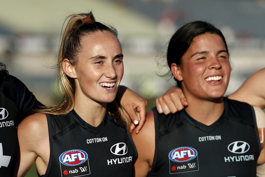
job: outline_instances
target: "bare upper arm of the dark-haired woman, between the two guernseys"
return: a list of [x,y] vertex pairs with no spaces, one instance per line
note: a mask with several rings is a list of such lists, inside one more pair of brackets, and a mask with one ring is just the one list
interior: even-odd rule
[[135,177],[145,177],[151,170],[155,154],[155,123],[152,111],[147,113],[142,130],[138,134],[132,133],[132,138],[138,152],[134,163]]

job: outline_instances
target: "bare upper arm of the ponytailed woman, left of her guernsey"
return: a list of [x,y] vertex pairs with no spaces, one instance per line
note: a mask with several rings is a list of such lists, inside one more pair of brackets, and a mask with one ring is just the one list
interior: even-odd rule
[[34,161],[40,175],[49,163],[49,134],[45,114],[26,117],[18,125],[19,157],[15,176],[24,176]]

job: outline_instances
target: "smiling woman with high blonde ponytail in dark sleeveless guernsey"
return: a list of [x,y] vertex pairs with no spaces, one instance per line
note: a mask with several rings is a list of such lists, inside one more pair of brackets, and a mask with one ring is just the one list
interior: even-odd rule
[[18,176],[34,161],[43,177],[133,176],[136,148],[114,101],[123,76],[117,30],[91,12],[67,19],[58,56],[63,100],[18,126]]

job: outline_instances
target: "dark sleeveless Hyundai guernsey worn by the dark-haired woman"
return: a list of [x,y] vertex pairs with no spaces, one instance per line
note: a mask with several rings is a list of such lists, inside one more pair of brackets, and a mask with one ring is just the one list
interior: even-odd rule
[[183,110],[153,108],[156,148],[148,176],[255,177],[260,141],[253,107],[224,98],[224,111],[206,126]]

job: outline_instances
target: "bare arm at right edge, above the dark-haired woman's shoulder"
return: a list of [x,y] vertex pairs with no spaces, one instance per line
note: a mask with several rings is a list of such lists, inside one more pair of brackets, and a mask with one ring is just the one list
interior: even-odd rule
[[253,106],[265,108],[265,68],[252,74],[240,88],[228,96]]

